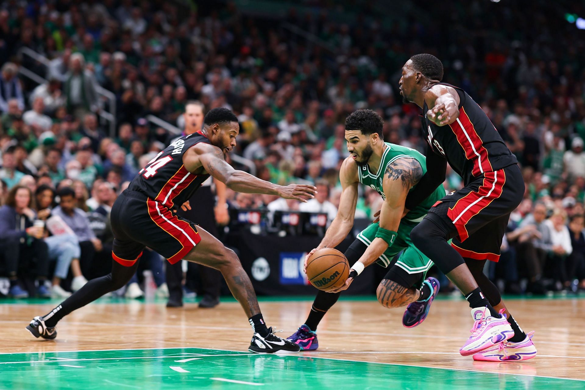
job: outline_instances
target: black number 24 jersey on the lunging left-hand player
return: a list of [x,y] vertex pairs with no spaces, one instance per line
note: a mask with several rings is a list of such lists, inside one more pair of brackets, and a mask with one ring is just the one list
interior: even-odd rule
[[183,165],[185,151],[199,142],[210,143],[202,132],[175,140],[140,170],[129,191],[142,192],[168,209],[180,207],[209,177],[192,174]]

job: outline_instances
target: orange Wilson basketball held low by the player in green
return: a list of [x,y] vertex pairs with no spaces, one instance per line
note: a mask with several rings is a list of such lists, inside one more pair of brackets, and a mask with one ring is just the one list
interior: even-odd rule
[[307,279],[322,291],[331,291],[345,283],[349,275],[349,262],[333,248],[316,250],[307,261]]

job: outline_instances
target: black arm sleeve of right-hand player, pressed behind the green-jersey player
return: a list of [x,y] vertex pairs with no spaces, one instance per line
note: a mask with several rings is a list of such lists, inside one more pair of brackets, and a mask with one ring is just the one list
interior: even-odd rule
[[426,173],[417,184],[417,188],[408,192],[404,208],[414,209],[435,191],[445,181],[447,160],[436,154],[426,145]]

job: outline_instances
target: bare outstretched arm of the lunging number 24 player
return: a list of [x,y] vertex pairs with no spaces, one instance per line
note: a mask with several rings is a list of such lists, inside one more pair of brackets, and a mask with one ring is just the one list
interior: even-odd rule
[[307,199],[315,197],[316,191],[312,185],[276,185],[244,171],[235,170],[232,165],[226,163],[221,149],[211,144],[198,143],[192,146],[185,152],[183,164],[190,172],[203,167],[208,174],[236,192],[278,195],[281,198],[296,199],[301,202],[307,202]]

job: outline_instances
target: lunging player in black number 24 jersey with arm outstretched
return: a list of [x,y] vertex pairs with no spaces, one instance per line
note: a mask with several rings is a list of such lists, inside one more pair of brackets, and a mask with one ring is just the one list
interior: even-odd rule
[[238,118],[228,109],[215,108],[205,115],[203,129],[180,137],[153,158],[112,206],[111,274],[91,280],[46,315],[35,317],[26,329],[35,337],[54,339],[61,318],[126,285],[136,272],[144,247],[149,247],[171,264],[185,259],[221,271],[252,325],[250,351],[298,351],[296,344],[277,337],[266,326],[250,278],[236,254],[201,227],[171,212],[177,206],[190,208],[187,200],[209,175],[236,192],[273,194],[302,202],[314,198],[312,185],[272,184],[226,163],[225,155],[236,146],[238,133]]

